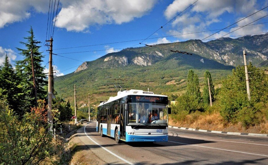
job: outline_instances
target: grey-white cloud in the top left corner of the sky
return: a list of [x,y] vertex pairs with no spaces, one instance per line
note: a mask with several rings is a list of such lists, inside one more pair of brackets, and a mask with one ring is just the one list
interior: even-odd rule
[[1,0],[0,1],[0,28],[13,22],[27,19],[31,11],[48,12],[49,1],[45,0]]

